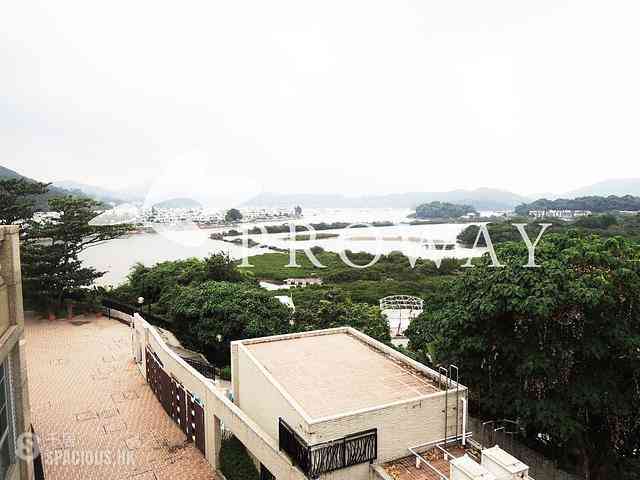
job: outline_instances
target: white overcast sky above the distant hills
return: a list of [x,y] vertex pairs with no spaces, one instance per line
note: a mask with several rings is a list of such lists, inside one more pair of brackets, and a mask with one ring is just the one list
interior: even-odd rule
[[124,187],[195,155],[209,184],[346,194],[640,177],[638,18],[637,1],[4,2],[0,164]]

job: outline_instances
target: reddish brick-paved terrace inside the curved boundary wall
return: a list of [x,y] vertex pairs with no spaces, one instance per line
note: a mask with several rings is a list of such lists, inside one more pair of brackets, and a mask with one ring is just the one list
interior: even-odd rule
[[47,480],[214,480],[106,318],[27,318],[32,421]]

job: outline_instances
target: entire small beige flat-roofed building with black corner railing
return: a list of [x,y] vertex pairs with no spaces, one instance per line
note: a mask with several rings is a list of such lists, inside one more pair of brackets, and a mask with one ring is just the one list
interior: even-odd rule
[[236,405],[309,478],[369,478],[466,428],[466,387],[352,328],[234,342],[231,355]]

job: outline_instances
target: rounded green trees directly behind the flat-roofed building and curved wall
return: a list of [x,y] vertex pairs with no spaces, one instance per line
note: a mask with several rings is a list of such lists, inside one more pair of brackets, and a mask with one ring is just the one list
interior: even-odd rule
[[296,289],[287,292],[296,305],[294,314],[275,293],[282,294],[259,288],[250,273],[218,253],[204,260],[138,264],[110,295],[126,303],[144,297],[163,326],[219,366],[229,364],[229,343],[243,338],[352,326],[383,342],[390,340],[378,297],[369,305],[352,300],[348,291]]

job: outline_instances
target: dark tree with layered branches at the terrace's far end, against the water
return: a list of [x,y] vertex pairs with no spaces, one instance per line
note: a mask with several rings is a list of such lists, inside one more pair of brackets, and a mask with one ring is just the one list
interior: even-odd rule
[[92,225],[99,203],[87,198],[61,197],[49,201],[52,213],[28,223],[23,242],[25,296],[50,310],[90,286],[104,272],[84,266],[80,253],[126,234],[129,225]]

